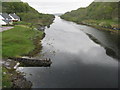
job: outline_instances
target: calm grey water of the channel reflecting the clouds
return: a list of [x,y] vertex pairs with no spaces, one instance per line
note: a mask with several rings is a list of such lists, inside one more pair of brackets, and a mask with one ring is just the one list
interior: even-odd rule
[[19,68],[33,88],[117,88],[118,61],[105,49],[117,53],[116,35],[57,16],[45,33],[42,52],[36,58],[51,58],[52,66]]

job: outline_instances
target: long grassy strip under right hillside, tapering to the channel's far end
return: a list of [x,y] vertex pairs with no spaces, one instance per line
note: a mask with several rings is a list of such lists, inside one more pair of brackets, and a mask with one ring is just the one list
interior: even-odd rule
[[75,22],[77,24],[82,24],[82,25],[87,25],[87,26],[91,26],[93,28],[99,29],[99,30],[105,30],[105,31],[110,31],[113,33],[118,33],[120,34],[120,22],[118,21],[113,21],[113,20],[93,20],[93,19],[86,19],[86,20],[81,20],[78,21],[77,19],[71,17],[71,18],[67,18],[65,15],[61,16],[62,19],[65,19],[67,21],[72,21]]

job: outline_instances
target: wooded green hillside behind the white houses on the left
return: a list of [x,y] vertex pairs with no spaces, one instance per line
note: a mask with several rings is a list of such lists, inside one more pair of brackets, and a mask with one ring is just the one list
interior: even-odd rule
[[30,7],[28,3],[24,2],[3,2],[2,12],[16,13],[24,22],[45,26],[49,26],[54,18],[53,15],[39,13],[34,8]]

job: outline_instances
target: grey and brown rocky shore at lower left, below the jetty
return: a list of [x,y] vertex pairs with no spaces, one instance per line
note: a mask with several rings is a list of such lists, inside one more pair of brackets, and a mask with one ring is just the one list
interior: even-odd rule
[[[7,70],[7,73],[11,77],[11,88],[31,88],[32,82],[28,81],[21,72],[16,71],[19,63],[11,59],[2,60],[2,68]],[[5,87],[3,87],[5,88]]]

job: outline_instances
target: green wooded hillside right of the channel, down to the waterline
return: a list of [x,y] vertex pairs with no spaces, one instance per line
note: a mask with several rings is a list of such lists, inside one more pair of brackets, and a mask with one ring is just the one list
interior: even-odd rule
[[120,29],[119,5],[117,2],[93,2],[86,8],[67,12],[61,18],[78,24]]

